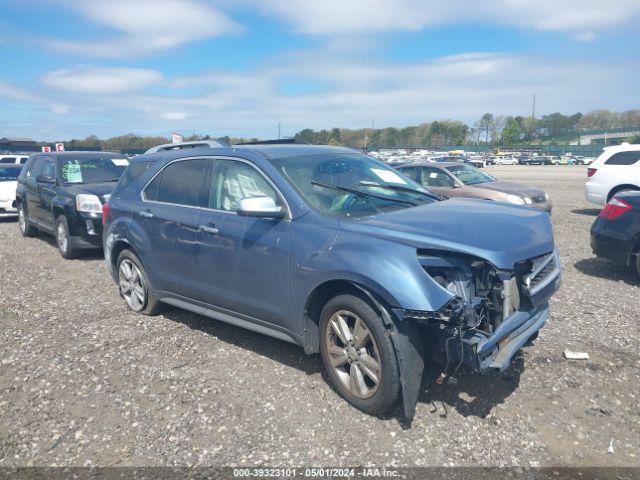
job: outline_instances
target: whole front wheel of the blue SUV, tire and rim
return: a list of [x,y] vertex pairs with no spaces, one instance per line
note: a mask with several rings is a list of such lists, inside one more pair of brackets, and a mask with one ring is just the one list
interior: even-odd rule
[[378,415],[397,403],[400,379],[390,331],[362,299],[338,295],[325,305],[320,354],[331,383],[352,405]]

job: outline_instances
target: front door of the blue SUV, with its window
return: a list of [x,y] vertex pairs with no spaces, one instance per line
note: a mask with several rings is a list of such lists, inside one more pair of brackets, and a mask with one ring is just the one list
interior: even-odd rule
[[284,205],[267,176],[240,159],[217,159],[208,205],[199,213],[200,300],[288,327],[288,219],[238,215],[243,198],[268,196]]

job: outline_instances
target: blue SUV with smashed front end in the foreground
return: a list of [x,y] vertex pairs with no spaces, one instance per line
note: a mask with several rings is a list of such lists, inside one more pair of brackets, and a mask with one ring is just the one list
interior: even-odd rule
[[442,201],[351,149],[166,146],[104,205],[104,252],[133,311],[170,304],[320,352],[370,414],[403,403],[424,362],[504,370],[549,317],[549,216]]

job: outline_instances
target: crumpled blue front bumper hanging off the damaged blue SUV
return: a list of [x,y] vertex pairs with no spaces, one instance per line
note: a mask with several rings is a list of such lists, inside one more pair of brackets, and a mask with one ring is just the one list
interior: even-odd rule
[[470,330],[463,336],[463,363],[476,371],[498,369],[504,371],[513,356],[549,318],[549,305],[531,311],[517,311],[487,336]]

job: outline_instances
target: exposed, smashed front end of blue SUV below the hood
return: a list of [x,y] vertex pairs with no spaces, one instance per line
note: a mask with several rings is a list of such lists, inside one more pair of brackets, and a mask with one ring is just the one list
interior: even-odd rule
[[[445,364],[441,381],[462,364],[476,371],[506,368],[508,363],[496,361],[498,353],[523,335],[522,326],[539,310],[548,308],[547,299],[559,285],[557,252],[519,262],[512,271],[466,255],[419,250],[418,258],[431,279],[452,295],[436,312],[404,311],[405,319],[426,327],[429,352]],[[519,348],[526,340],[510,346]]]

